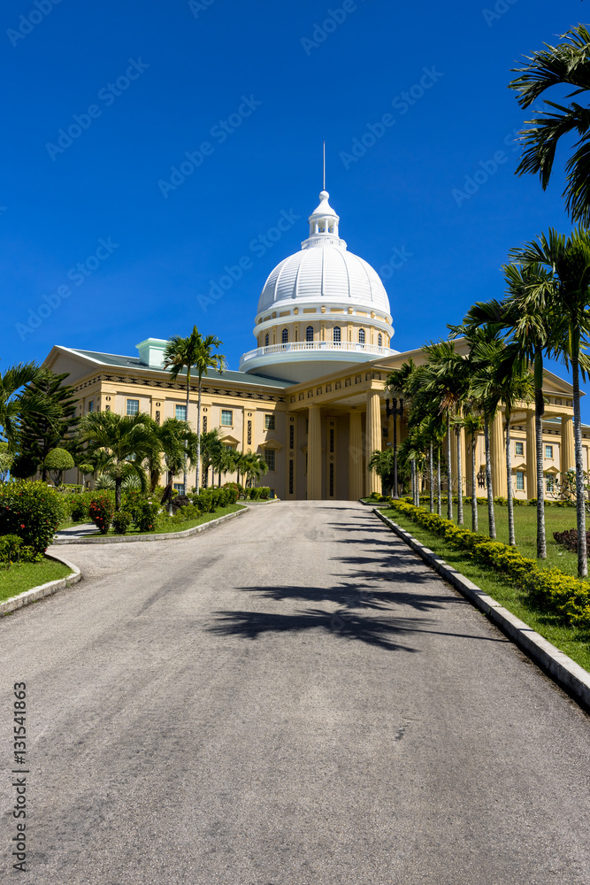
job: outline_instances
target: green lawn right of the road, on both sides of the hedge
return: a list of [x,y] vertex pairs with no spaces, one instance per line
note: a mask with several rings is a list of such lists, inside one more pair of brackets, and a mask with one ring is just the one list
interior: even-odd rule
[[[426,508],[428,509],[428,508]],[[456,511],[456,506],[454,508]],[[497,540],[508,542],[508,514],[507,508],[496,506],[496,528]],[[529,627],[544,636],[550,643],[553,643],[558,649],[565,652],[580,666],[590,671],[590,634],[582,630],[567,627],[556,615],[542,611],[539,607],[533,605],[527,598],[526,594],[517,588],[516,585],[510,583],[510,580],[503,575],[487,571],[483,566],[474,564],[463,550],[454,550],[433,532],[427,531],[417,522],[410,519],[393,508],[384,509],[383,512],[390,519],[393,519],[398,526],[405,528],[410,535],[415,537],[420,543],[433,550],[438,556],[441,556],[449,566],[453,566],[456,570],[466,578],[476,583],[479,588],[485,590],[490,596],[493,596],[497,602],[504,605],[509,612],[515,614],[517,618],[524,620]],[[517,543],[519,549],[525,556],[535,558],[536,556],[536,518],[535,509],[533,507],[515,507],[515,524],[517,533]],[[446,510],[442,514],[446,518]],[[466,527],[471,528],[471,510],[465,511]],[[455,513],[456,516],[456,513]],[[563,569],[564,572],[576,574],[576,556],[573,553],[564,552],[563,556],[558,555],[558,547],[553,540],[550,532],[562,530],[575,526],[576,512],[573,508],[551,508],[545,510],[548,531],[548,565],[556,565]],[[573,521],[572,521],[573,517]],[[487,526],[487,507],[479,507],[479,527],[482,534],[487,534],[485,528]],[[550,535],[550,538],[549,538]],[[565,564],[568,567],[565,567]]]

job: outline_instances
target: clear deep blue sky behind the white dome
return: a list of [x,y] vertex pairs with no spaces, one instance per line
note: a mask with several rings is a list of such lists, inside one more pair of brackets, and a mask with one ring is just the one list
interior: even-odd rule
[[[0,366],[53,344],[135,354],[196,324],[237,368],[266,276],[307,235],[324,139],[341,235],[382,273],[395,348],[446,335],[472,302],[502,296],[510,247],[571,227],[567,150],[546,192],[514,175],[525,115],[507,84],[585,12],[579,0],[7,0]],[[272,242],[281,212],[300,219]],[[244,256],[249,269],[206,304]],[[71,294],[58,304],[59,287]]]

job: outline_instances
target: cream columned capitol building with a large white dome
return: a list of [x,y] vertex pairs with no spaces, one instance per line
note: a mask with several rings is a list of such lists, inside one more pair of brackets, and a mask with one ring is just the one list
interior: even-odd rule
[[[233,449],[262,454],[269,468],[264,484],[280,498],[355,500],[381,490],[379,477],[367,465],[374,450],[392,444],[393,421],[398,422],[398,440],[407,433],[405,416],[386,417],[387,375],[410,358],[419,365],[425,356],[421,346],[402,353],[392,347],[386,289],[372,266],[341,239],[340,218],[325,190],[309,224],[301,250],[284,258],[264,283],[254,318],[256,347],[242,355],[239,371],[203,378],[201,426],[218,427]],[[213,331],[223,340],[222,328]],[[69,373],[67,383],[76,391],[80,415],[99,409],[148,412],[158,422],[186,417],[195,428],[196,385],[191,386],[186,415],[186,384],[181,376],[171,381],[165,371],[165,344],[148,338],[137,345],[137,355],[128,357],[56,345],[43,365]],[[462,342],[456,347],[461,352]],[[551,477],[574,466],[572,389],[546,371],[543,390],[544,473],[550,495]],[[499,411],[491,445],[494,494],[505,496],[502,421]],[[530,498],[536,496],[533,407],[515,410],[511,421],[513,488],[516,496]],[[587,470],[588,428],[583,442]],[[464,435],[461,446],[466,465]],[[480,440],[480,477],[484,460]],[[182,477],[176,479],[182,490]],[[189,487],[195,479],[193,470]],[[226,480],[231,479],[227,474]],[[80,482],[81,476],[71,471],[66,481]],[[471,494],[469,482],[465,477],[462,481]],[[483,479],[476,493],[485,494]]]

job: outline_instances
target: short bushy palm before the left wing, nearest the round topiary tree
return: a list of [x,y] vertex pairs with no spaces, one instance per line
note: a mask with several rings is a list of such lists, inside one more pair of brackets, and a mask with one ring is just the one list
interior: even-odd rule
[[89,412],[80,421],[80,443],[88,443],[88,456],[103,450],[103,473],[115,481],[115,510],[121,509],[121,486],[129,476],[136,476],[142,491],[147,489],[143,462],[160,450],[153,421],[147,412],[118,415],[116,412]]

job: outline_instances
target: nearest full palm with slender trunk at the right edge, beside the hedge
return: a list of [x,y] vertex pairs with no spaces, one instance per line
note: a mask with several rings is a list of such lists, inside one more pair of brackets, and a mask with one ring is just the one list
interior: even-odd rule
[[582,419],[579,408],[580,367],[585,374],[587,358],[583,345],[590,335],[590,235],[582,228],[569,237],[549,228],[548,235],[540,234],[538,241],[512,250],[511,257],[523,268],[533,272],[541,268],[546,273],[529,286],[525,301],[533,311],[553,318],[554,336],[550,342],[556,356],[571,367],[573,387],[574,443],[576,452],[578,574],[588,573],[586,552],[586,507],[584,496],[584,465],[582,460]]

